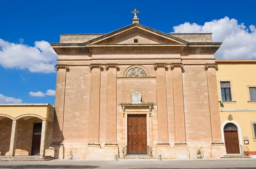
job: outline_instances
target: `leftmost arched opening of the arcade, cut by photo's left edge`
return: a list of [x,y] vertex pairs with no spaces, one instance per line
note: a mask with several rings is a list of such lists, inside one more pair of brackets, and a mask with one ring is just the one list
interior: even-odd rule
[[0,155],[8,156],[12,135],[12,118],[0,115]]

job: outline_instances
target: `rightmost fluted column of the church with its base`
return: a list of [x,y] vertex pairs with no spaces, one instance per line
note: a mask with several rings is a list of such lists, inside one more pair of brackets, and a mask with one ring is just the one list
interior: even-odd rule
[[207,72],[207,86],[209,99],[209,113],[212,131],[212,158],[220,158],[227,154],[226,147],[221,139],[221,121],[218,103],[218,88],[216,79],[217,64],[205,64]]

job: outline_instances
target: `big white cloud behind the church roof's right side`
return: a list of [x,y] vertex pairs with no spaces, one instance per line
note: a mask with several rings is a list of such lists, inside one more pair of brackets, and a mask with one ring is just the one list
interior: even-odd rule
[[217,59],[256,59],[256,27],[249,29],[236,19],[224,17],[204,25],[184,23],[174,26],[175,33],[210,33],[213,42],[223,42],[215,53]]

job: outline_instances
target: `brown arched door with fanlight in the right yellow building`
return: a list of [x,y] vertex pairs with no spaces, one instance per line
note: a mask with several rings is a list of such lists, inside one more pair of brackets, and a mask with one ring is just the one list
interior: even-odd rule
[[237,127],[233,123],[224,126],[224,140],[227,154],[240,154]]

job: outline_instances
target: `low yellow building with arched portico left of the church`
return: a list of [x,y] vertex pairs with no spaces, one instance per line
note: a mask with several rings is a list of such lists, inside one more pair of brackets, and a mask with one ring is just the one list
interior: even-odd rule
[[50,104],[0,104],[0,161],[29,155],[53,159],[49,146],[54,111]]

